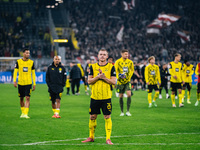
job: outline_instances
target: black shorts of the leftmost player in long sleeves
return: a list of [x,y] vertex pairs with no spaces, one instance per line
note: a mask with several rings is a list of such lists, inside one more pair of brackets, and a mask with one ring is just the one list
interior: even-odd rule
[[18,96],[19,97],[25,97],[31,96],[31,92],[32,92],[32,84],[30,85],[18,85]]

